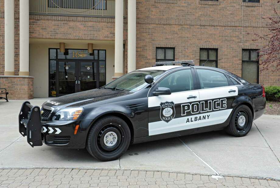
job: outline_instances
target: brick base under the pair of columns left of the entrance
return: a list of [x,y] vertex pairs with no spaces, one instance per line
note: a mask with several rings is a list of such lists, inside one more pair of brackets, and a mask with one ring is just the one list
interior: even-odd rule
[[0,76],[0,88],[6,88],[8,99],[33,99],[32,76]]

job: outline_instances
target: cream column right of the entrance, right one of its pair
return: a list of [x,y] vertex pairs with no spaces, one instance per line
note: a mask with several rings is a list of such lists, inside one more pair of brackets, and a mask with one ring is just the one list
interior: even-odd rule
[[128,1],[128,73],[136,69],[136,0]]

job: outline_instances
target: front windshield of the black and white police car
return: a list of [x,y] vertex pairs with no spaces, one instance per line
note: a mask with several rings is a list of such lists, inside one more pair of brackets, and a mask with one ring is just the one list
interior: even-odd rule
[[163,70],[137,70],[128,73],[117,80],[104,86],[105,89],[135,92],[147,85],[144,78],[146,75],[152,75],[154,79],[162,74]]

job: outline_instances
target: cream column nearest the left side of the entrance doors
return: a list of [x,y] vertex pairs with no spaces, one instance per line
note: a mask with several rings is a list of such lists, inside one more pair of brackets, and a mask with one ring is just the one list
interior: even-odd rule
[[29,0],[19,0],[19,75],[29,76]]

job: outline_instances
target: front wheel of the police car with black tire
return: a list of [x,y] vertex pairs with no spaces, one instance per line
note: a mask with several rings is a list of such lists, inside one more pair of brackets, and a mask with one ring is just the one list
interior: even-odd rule
[[129,144],[130,130],[127,123],[116,116],[105,116],[97,120],[89,130],[86,149],[96,159],[113,161],[124,154]]

